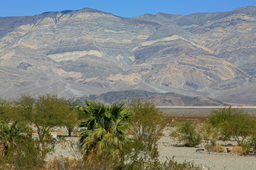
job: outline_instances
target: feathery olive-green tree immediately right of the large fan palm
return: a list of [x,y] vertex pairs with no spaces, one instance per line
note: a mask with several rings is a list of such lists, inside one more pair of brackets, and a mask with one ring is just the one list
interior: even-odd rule
[[128,107],[133,113],[129,124],[136,146],[141,141],[143,145],[141,149],[144,148],[146,156],[150,156],[152,159],[158,157],[157,142],[166,125],[165,116],[153,102],[146,100],[133,99]]

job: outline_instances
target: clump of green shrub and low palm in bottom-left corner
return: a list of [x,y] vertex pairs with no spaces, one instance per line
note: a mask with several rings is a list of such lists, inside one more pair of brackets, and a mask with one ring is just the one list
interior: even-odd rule
[[32,137],[30,128],[16,122],[1,122],[0,143],[4,146],[1,150],[0,169],[43,168],[46,154],[52,151]]

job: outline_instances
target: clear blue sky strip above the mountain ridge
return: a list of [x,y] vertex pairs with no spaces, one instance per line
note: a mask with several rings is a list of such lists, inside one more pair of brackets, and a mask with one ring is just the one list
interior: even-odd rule
[[256,0],[1,0],[0,17],[82,8],[94,8],[122,17],[136,17],[158,12],[192,14],[232,11],[249,5],[256,6]]

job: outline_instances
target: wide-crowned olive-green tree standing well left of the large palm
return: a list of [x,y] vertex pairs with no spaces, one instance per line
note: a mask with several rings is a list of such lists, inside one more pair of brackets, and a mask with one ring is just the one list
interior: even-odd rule
[[[46,94],[36,99],[23,95],[11,102],[8,112],[12,119],[18,120],[20,124],[35,124],[39,140],[42,142],[46,135],[50,137],[50,128],[62,126],[70,109],[66,99],[58,98],[56,95]],[[69,117],[70,120],[72,118]]]

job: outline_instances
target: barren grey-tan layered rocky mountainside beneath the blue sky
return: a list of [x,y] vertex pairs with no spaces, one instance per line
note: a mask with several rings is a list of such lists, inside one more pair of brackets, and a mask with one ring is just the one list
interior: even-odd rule
[[84,8],[2,17],[0,96],[140,89],[254,104],[255,24],[255,7],[186,16],[126,18]]

